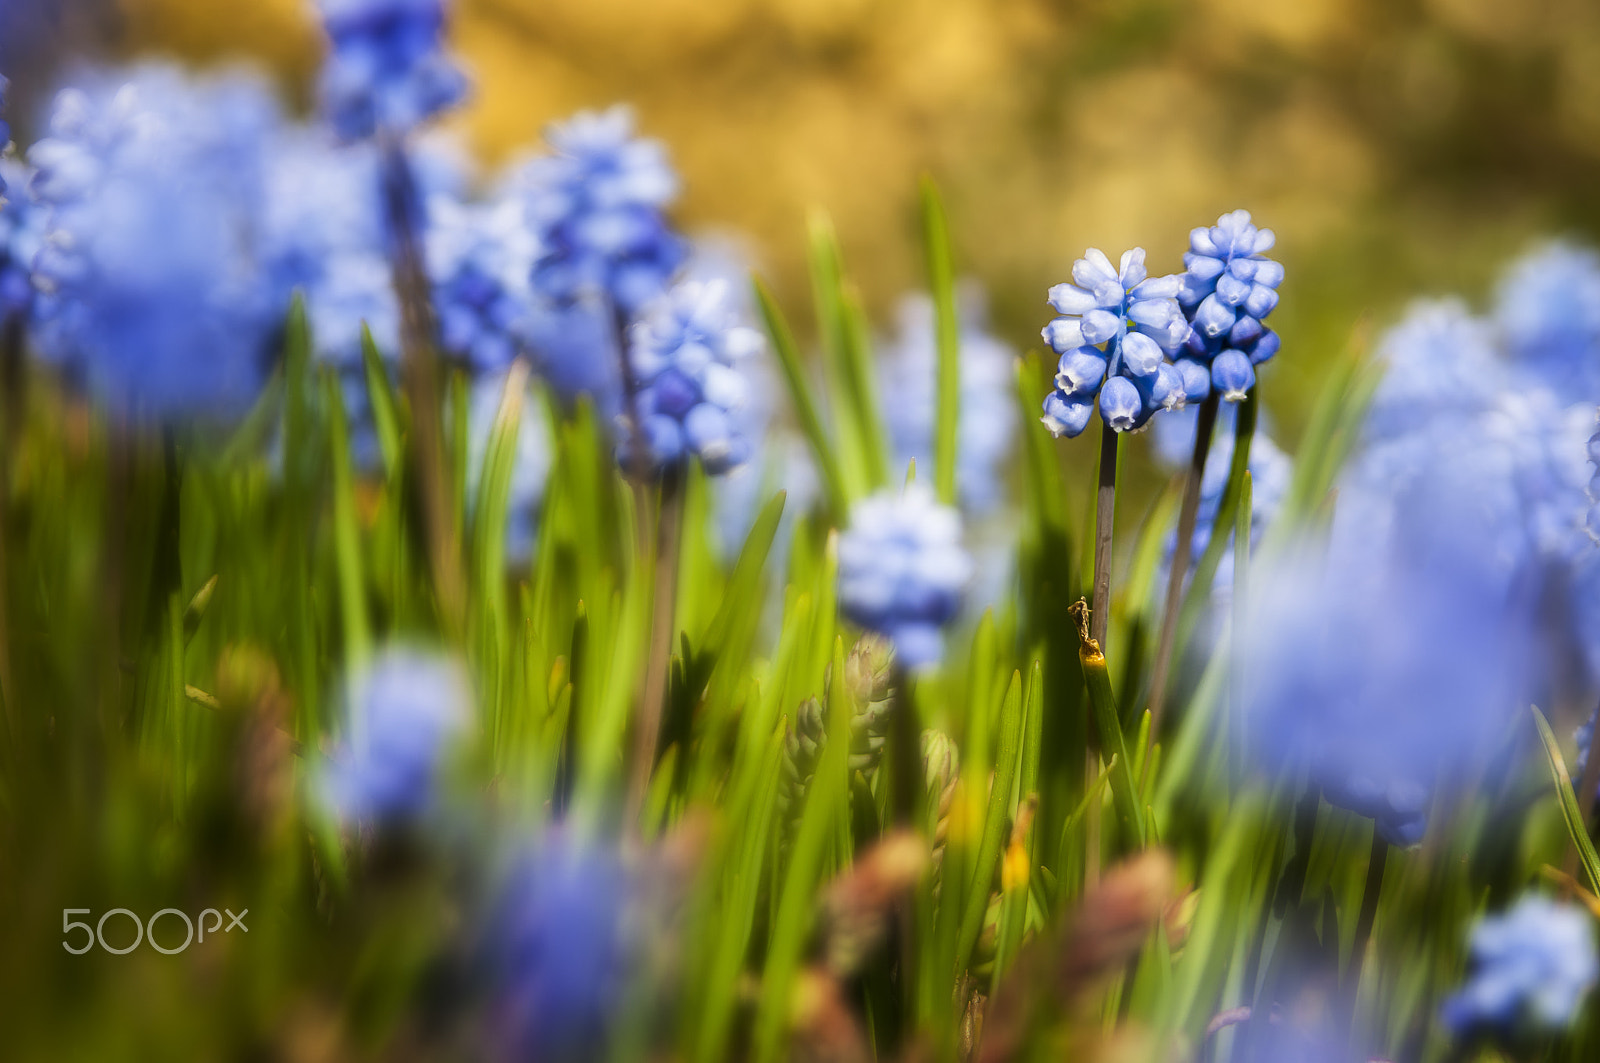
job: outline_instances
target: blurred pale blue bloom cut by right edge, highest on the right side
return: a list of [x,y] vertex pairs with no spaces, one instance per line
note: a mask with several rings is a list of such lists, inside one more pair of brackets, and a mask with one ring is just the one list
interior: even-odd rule
[[1494,325],[1546,387],[1600,399],[1600,255],[1554,242],[1517,259],[1496,291]]

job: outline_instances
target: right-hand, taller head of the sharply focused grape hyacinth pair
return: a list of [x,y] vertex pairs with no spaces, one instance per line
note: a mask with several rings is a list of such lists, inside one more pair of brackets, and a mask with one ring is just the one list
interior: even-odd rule
[[1178,370],[1190,402],[1216,391],[1238,402],[1256,368],[1278,352],[1278,335],[1261,323],[1278,304],[1283,266],[1266,256],[1277,237],[1235,210],[1189,234],[1178,301],[1194,327]]

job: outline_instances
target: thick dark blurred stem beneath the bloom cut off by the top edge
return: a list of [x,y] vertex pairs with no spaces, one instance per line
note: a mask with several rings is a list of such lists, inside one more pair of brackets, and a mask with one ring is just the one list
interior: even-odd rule
[[384,142],[384,205],[394,235],[395,295],[400,299],[400,378],[411,405],[411,458],[416,463],[422,503],[422,532],[427,536],[434,594],[440,620],[451,637],[466,623],[466,581],[461,572],[461,543],[451,519],[450,463],[440,427],[443,392],[438,355],[434,349],[434,301],[422,269],[422,245],[416,231],[419,199],[416,176],[398,139]]

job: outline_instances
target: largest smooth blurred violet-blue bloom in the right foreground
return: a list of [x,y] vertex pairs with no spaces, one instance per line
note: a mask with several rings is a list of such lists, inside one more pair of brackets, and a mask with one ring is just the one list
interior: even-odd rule
[[1328,800],[1421,837],[1442,775],[1498,735],[1528,682],[1526,588],[1453,490],[1413,487],[1387,523],[1344,522],[1317,556],[1251,580],[1250,748],[1277,773],[1307,765]]

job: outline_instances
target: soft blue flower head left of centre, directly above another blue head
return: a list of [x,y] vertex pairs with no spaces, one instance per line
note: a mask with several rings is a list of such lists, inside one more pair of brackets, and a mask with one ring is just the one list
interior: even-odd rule
[[515,178],[539,243],[534,290],[560,306],[589,298],[632,317],[688,253],[662,215],[678,194],[667,152],[634,134],[622,106],[579,112],[546,141],[550,154]]

